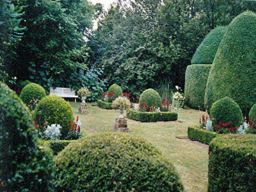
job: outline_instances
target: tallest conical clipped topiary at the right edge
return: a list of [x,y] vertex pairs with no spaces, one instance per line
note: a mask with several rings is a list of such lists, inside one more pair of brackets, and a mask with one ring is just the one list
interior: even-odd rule
[[256,14],[238,15],[223,36],[205,89],[205,106],[223,97],[239,104],[248,115],[256,103]]

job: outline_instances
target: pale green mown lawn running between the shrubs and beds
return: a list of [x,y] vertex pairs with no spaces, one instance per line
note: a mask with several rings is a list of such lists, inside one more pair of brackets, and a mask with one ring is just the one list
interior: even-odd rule
[[[88,114],[79,114],[79,102],[70,102],[74,116],[82,122],[83,134],[112,132],[115,118],[120,113],[88,104]],[[198,125],[204,112],[194,109],[175,110],[175,122],[141,123],[127,119],[129,132],[143,136],[155,145],[177,168],[184,188],[188,192],[207,191],[208,150],[179,138],[186,137],[189,126]],[[178,138],[177,138],[178,137]]]

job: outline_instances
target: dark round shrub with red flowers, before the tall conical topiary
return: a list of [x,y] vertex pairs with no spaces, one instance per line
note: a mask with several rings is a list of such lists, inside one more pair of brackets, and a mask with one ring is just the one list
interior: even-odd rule
[[[224,97],[212,104],[211,119],[214,131],[223,133],[225,130],[222,129],[225,129],[225,127],[227,127],[227,129],[230,127],[238,128],[243,121],[243,114],[239,105],[234,102],[234,100],[229,97]],[[220,125],[220,130],[216,128],[218,125]],[[232,132],[231,129],[229,131]],[[234,129],[234,131],[236,131],[236,129]]]

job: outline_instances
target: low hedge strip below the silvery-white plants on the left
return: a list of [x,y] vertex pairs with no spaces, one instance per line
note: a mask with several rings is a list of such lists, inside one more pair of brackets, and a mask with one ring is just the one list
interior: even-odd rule
[[49,146],[54,156],[56,156],[72,141],[74,140],[38,140],[38,144],[43,146]]

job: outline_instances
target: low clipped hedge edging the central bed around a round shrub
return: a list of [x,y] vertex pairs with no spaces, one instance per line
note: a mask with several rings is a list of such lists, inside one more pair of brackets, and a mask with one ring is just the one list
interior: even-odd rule
[[175,112],[141,112],[132,109],[127,110],[127,118],[141,122],[169,122],[178,119]]

